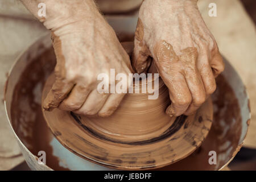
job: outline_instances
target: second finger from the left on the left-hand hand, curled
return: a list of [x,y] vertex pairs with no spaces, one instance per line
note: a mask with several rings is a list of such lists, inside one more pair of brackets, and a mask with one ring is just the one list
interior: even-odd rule
[[75,85],[68,98],[61,102],[59,109],[73,111],[80,109],[91,90],[85,86]]

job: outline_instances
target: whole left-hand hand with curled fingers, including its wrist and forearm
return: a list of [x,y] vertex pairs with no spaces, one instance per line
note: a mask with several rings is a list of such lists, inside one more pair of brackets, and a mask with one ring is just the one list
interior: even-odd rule
[[[38,2],[23,0],[35,16]],[[59,107],[77,114],[102,117],[112,114],[125,94],[100,94],[97,85],[101,80],[97,77],[101,73],[110,77],[110,69],[115,69],[115,74],[125,73],[128,80],[132,70],[130,58],[114,30],[93,1],[40,2],[46,3],[47,16],[38,19],[52,31],[57,58],[56,81],[43,108]]]

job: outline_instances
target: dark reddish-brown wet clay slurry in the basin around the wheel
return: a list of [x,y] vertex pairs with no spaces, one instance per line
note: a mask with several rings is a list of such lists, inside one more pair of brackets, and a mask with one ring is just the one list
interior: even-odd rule
[[[46,126],[40,104],[42,85],[53,71],[54,65],[55,55],[51,49],[27,66],[15,87],[11,105],[11,121],[15,133],[25,146],[34,155],[37,155],[38,151],[46,151],[47,166],[60,170],[65,168],[61,167],[60,159],[53,155],[52,146],[49,144],[49,141],[53,139],[53,134]],[[231,158],[241,135],[240,108],[233,90],[224,77],[218,77],[217,84],[217,91],[213,94],[215,119],[208,137],[201,147],[188,158],[163,169],[219,169]],[[201,119],[198,121],[201,122]],[[230,123],[233,124],[229,127]],[[59,136],[61,133],[56,132],[54,135]],[[226,142],[231,144],[227,143],[225,148]],[[210,150],[223,155],[222,158],[218,158],[217,166],[210,166],[207,163]],[[129,158],[133,159],[133,157]]]

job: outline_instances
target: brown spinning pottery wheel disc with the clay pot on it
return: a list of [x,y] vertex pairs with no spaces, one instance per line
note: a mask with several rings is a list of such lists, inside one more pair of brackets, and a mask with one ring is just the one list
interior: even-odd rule
[[[42,100],[55,80],[44,86]],[[47,125],[64,147],[81,158],[117,169],[152,169],[185,158],[201,145],[213,119],[212,101],[188,117],[170,117],[168,89],[159,80],[159,98],[126,94],[110,117],[88,118],[55,109],[43,111]]]

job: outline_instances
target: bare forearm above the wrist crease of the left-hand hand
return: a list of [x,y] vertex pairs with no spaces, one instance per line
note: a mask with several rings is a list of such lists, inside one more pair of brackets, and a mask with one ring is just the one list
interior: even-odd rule
[[[93,0],[20,0],[27,9],[44,23],[49,30],[54,30],[78,20],[92,22],[101,15]],[[38,15],[39,3],[46,5],[46,16]]]

